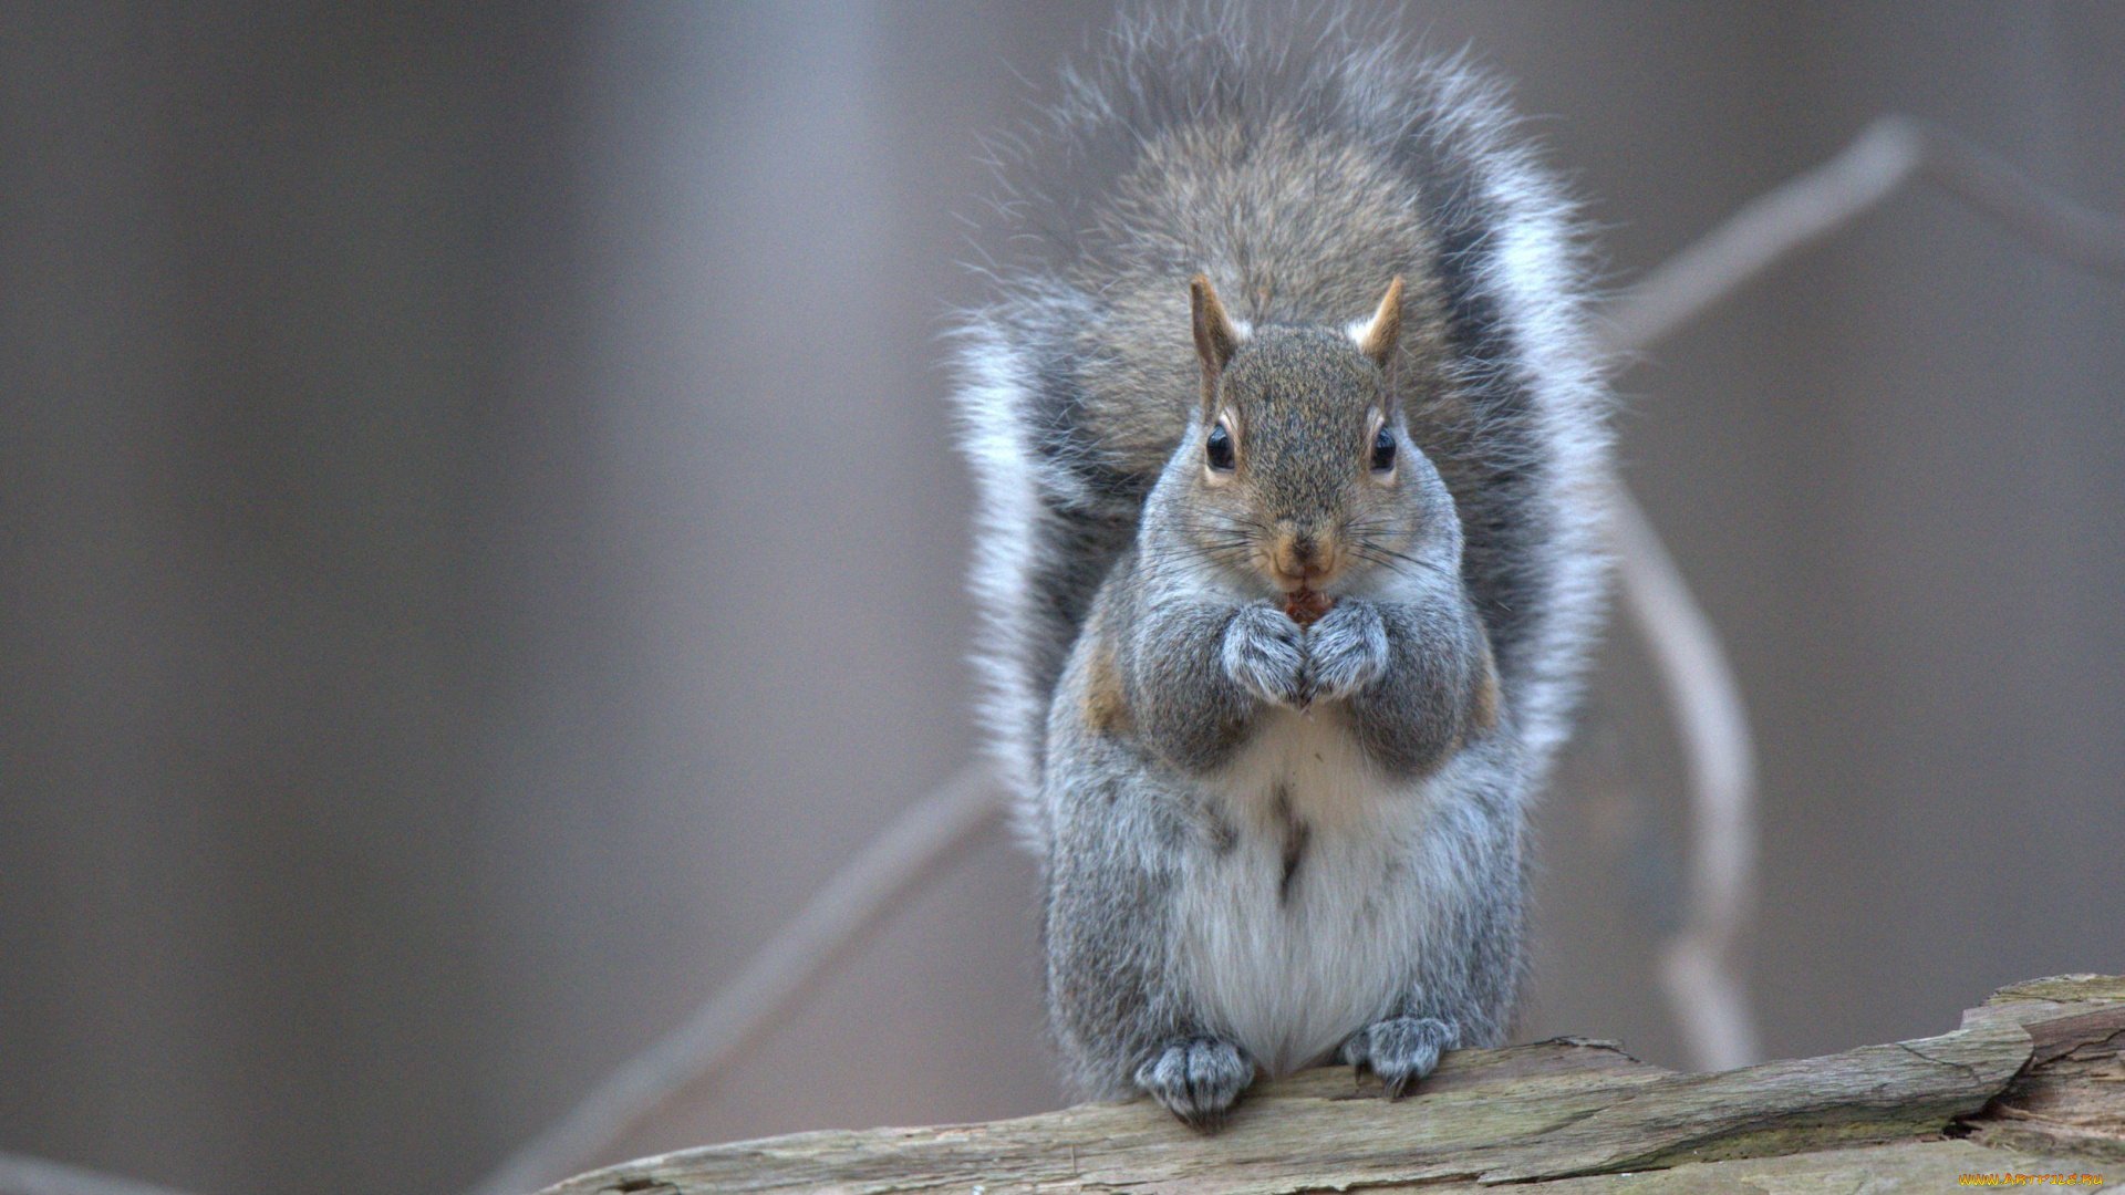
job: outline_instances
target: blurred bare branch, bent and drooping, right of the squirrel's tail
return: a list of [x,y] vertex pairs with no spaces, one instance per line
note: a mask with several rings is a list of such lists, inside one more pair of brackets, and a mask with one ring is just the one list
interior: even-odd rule
[[[1806,174],[1751,200],[1617,298],[1604,347],[1628,355],[1711,310],[1742,283],[1925,179],[2076,266],[2125,274],[2125,219],[2070,204],[1974,145],[1881,117]],[[1668,1004],[1700,1070],[1757,1059],[1734,946],[1755,895],[1755,748],[1719,634],[1621,481],[1611,489],[1624,602],[1653,653],[1689,759],[1689,912],[1662,955]]]

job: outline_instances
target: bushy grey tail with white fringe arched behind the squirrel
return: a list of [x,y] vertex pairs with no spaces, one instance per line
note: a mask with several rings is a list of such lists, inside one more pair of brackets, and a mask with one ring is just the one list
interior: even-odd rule
[[1341,323],[1407,274],[1451,361],[1405,395],[1460,510],[1464,583],[1524,776],[1566,734],[1600,606],[1604,391],[1570,206],[1498,87],[1392,32],[1224,6],[1124,17],[999,153],[994,298],[963,325],[958,406],[980,483],[982,717],[1020,831],[1086,610],[1198,395],[1188,279],[1232,317]]

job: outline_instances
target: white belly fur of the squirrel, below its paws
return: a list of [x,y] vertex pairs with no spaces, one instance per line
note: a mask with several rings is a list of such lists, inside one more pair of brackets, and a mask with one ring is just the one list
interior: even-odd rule
[[[1392,874],[1413,863],[1424,785],[1375,778],[1330,708],[1271,714],[1211,789],[1239,840],[1184,868],[1175,931],[1188,989],[1271,1074],[1320,1063],[1409,984],[1424,910]],[[1307,840],[1286,899],[1294,823]]]

